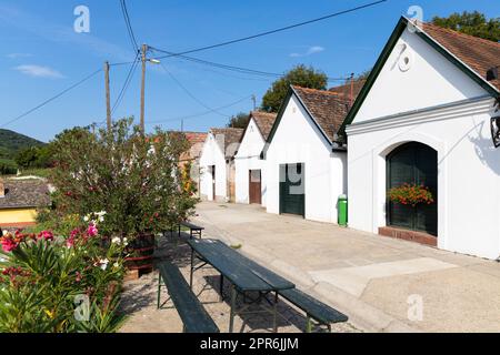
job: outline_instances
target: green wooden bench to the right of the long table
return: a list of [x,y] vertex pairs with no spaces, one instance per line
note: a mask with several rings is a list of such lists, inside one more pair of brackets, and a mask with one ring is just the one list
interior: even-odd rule
[[306,312],[308,318],[306,333],[311,333],[312,331],[311,318],[317,321],[321,325],[326,325],[330,333],[331,324],[344,323],[349,320],[347,315],[340,313],[337,310],[333,310],[329,305],[326,305],[324,303],[311,297],[300,290],[284,290],[280,291],[279,294],[287,301]]

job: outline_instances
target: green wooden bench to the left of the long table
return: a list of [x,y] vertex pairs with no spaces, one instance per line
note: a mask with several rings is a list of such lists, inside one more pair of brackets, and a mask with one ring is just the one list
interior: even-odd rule
[[158,268],[158,310],[161,308],[161,287],[167,286],[167,292],[182,320],[184,333],[219,333],[216,323],[192,293],[179,268],[168,262],[161,263]]

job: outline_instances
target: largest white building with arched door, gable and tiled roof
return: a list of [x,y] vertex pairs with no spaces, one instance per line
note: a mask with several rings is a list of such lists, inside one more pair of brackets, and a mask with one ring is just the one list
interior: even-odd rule
[[[346,120],[351,227],[499,257],[499,43],[400,20]],[[389,201],[403,183],[434,203]]]

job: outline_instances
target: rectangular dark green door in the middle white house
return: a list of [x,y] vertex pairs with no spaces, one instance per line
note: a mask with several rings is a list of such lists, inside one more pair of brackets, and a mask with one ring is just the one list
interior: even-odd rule
[[306,216],[304,164],[280,165],[280,213]]

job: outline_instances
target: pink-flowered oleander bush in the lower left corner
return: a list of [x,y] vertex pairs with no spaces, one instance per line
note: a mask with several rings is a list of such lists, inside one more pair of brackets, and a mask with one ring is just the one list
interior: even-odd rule
[[68,236],[52,232],[0,237],[0,333],[112,333],[124,274],[120,240],[98,222]]

